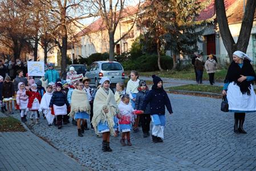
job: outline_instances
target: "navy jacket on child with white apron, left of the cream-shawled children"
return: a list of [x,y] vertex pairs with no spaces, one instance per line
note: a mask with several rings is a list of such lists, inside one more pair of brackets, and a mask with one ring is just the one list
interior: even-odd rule
[[62,91],[55,91],[52,94],[51,101],[49,107],[53,107],[53,105],[62,106],[64,104],[67,105],[67,107],[70,105],[67,101],[67,96]]

